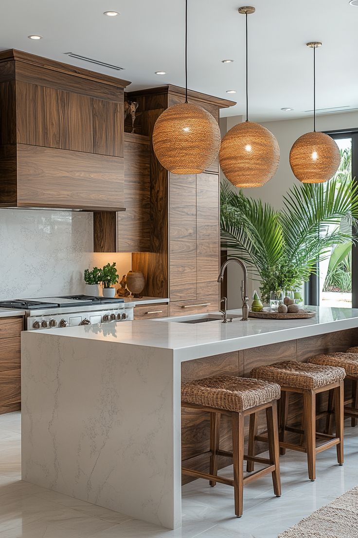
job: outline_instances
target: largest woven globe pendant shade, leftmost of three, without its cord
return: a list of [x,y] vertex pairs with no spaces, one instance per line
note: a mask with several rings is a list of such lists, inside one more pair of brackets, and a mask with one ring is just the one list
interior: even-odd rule
[[152,143],[158,161],[173,174],[199,174],[216,159],[220,128],[207,110],[174,104],[157,119]]

